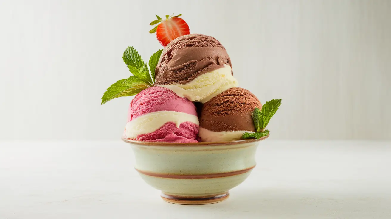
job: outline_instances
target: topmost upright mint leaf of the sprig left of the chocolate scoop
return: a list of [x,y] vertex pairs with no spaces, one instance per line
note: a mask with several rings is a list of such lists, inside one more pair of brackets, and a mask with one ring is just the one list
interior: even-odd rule
[[153,84],[151,75],[149,75],[147,63],[144,63],[143,59],[135,50],[135,48],[132,46],[127,47],[122,59],[124,59],[125,64],[127,64],[127,68],[129,68],[129,71],[133,75],[139,77],[146,83],[151,85]]

